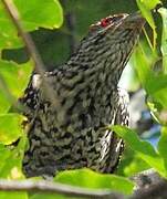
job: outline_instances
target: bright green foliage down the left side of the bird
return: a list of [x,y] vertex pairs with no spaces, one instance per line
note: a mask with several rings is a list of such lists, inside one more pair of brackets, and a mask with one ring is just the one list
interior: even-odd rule
[[[14,0],[27,31],[40,27],[53,29],[62,24],[62,8],[59,1],[21,1]],[[33,9],[32,9],[33,8]],[[38,13],[38,14],[36,14]],[[56,13],[56,14],[55,14]],[[7,11],[0,2],[0,50],[23,45],[21,38],[12,24]],[[25,134],[21,127],[23,116],[11,111],[17,98],[23,94],[33,70],[31,61],[18,64],[0,60],[0,178],[23,179],[22,158],[27,144]],[[9,146],[19,140],[17,147]],[[9,146],[9,147],[8,147]],[[27,199],[27,192],[0,192],[0,198]]]

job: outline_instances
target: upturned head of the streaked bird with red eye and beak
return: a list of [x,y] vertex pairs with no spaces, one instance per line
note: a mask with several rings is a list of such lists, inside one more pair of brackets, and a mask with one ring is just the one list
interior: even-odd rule
[[[139,13],[127,14],[121,13],[109,15],[92,24],[85,40],[97,43],[124,44],[135,41],[139,35],[145,19]],[[97,42],[98,41],[98,42]]]

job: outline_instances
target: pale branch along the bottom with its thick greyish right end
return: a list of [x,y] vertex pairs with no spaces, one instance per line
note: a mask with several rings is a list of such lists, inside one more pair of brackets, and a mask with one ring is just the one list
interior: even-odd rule
[[[129,196],[129,199],[163,199],[167,196],[167,180],[161,178],[153,169],[140,172],[132,177],[137,187],[134,193]],[[0,191],[42,191],[60,193],[71,197],[82,198],[102,198],[102,199],[124,199],[123,196],[117,192],[109,191],[107,189],[87,189],[81,187],[74,187],[70,185],[52,182],[46,180],[32,181],[32,180],[0,180]]]

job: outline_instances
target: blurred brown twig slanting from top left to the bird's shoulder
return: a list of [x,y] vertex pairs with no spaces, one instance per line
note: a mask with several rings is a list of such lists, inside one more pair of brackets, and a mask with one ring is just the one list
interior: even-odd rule
[[43,86],[44,86],[44,92],[46,94],[46,96],[50,98],[51,103],[56,106],[56,101],[55,97],[53,95],[53,91],[52,87],[50,87],[50,85],[46,83],[45,78],[44,78],[44,64],[41,60],[41,56],[39,55],[36,48],[30,36],[30,34],[28,32],[23,31],[23,27],[20,22],[20,15],[19,12],[15,8],[15,6],[13,4],[12,0],[2,0],[4,8],[7,10],[7,12],[9,13],[13,24],[15,25],[19,35],[21,35],[24,44],[25,44],[25,49],[28,54],[31,55],[32,61],[34,62],[35,65],[35,71],[41,75],[42,82],[43,82]]

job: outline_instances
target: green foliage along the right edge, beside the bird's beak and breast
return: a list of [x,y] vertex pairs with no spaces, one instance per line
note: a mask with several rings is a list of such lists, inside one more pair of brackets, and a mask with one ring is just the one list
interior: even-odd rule
[[[146,4],[142,1],[137,1],[139,8],[145,9],[147,11]],[[147,1],[146,1],[147,3]],[[140,140],[137,136],[135,130],[114,126],[112,127],[121,137],[123,137],[126,143],[128,144],[129,148],[132,148],[137,157],[139,156],[144,161],[149,165],[150,168],[156,169],[161,176],[167,177],[166,170],[166,124],[167,117],[165,115],[167,108],[167,76],[166,76],[166,50],[167,50],[167,42],[166,42],[166,14],[167,10],[165,8],[160,8],[158,12],[161,14],[163,19],[163,35],[161,35],[161,44],[160,46],[158,43],[150,44],[144,42],[136,49],[135,53],[133,54],[132,64],[135,66],[137,72],[138,78],[140,81],[142,86],[145,88],[147,94],[147,105],[150,109],[153,117],[158,122],[161,127],[161,136],[157,144],[157,148],[154,147],[144,140]],[[148,11],[145,13],[146,19],[149,22],[149,14]],[[150,23],[149,23],[150,24]],[[155,23],[152,23],[150,27],[153,28],[153,33],[155,33]],[[155,35],[153,38],[156,38]],[[148,38],[147,38],[148,39]],[[153,40],[155,42],[155,40]],[[159,54],[159,49],[161,50],[161,54]],[[154,70],[161,60],[160,69]]]

